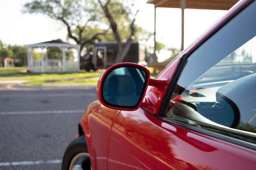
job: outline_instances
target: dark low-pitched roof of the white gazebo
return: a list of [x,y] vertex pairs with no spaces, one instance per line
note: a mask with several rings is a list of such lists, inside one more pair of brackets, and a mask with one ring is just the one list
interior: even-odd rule
[[49,47],[65,47],[65,48],[77,48],[79,45],[69,44],[65,43],[59,40],[52,40],[52,41],[46,41],[46,42],[39,42],[36,44],[29,44],[27,47],[30,48],[49,48]]

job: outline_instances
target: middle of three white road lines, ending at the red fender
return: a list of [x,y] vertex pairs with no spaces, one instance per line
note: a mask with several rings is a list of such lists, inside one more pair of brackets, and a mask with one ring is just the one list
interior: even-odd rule
[[84,110],[55,110],[55,111],[0,112],[0,115],[74,114],[74,113],[84,113]]

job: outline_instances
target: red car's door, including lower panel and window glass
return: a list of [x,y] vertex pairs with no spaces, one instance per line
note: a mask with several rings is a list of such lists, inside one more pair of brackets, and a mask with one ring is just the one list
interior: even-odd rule
[[256,2],[241,8],[162,75],[158,115],[119,113],[108,169],[255,169]]

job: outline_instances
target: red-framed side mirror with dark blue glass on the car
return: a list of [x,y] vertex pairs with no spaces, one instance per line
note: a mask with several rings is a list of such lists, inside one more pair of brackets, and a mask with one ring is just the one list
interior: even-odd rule
[[139,64],[118,63],[100,77],[97,95],[101,104],[119,110],[137,110],[145,96],[149,70]]

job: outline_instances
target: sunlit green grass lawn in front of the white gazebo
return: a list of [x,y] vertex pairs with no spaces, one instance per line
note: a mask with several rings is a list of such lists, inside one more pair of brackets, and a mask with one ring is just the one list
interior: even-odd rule
[[[0,68],[1,81],[22,81],[25,85],[65,86],[65,85],[97,85],[100,72],[79,73],[26,73],[27,67]],[[149,68],[150,70],[150,68]],[[151,74],[151,77],[156,75]]]

